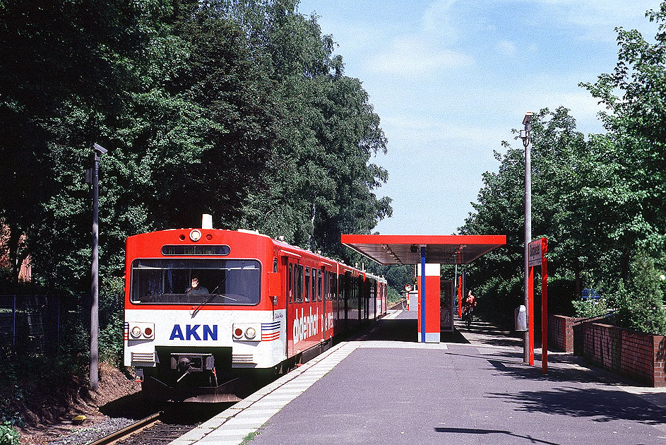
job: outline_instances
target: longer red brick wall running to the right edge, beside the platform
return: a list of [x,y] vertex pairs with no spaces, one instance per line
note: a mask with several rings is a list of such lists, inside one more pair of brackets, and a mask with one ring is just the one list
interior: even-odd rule
[[585,360],[650,386],[666,386],[666,340],[600,323],[576,328]]

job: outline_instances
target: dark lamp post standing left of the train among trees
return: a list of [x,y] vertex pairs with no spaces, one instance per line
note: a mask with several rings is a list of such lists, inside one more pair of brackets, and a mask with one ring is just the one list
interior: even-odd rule
[[107,153],[107,149],[93,143],[93,169],[90,171],[90,179],[93,183],[93,266],[91,294],[93,304],[90,307],[90,386],[93,391],[99,387],[99,374],[97,365],[99,363],[99,331],[100,331],[100,258],[99,258],[99,207],[100,207],[100,158]]

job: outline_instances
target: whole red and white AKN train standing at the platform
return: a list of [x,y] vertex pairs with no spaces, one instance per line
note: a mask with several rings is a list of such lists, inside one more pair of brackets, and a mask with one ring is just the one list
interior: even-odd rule
[[125,271],[124,364],[164,399],[238,400],[239,376],[284,372],[386,314],[383,278],[246,230],[129,237]]

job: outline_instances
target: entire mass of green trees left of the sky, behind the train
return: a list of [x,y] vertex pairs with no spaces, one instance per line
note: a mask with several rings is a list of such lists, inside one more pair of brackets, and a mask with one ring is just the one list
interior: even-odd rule
[[[100,162],[100,353],[121,348],[126,237],[254,228],[353,259],[340,233],[391,214],[386,137],[333,38],[292,0],[0,2],[0,219],[13,268],[90,290],[90,144]],[[87,297],[64,326],[85,332]],[[84,314],[85,315],[85,314]],[[86,336],[63,344],[81,370]],[[82,358],[83,357],[83,358]],[[81,359],[81,360],[80,360]]]

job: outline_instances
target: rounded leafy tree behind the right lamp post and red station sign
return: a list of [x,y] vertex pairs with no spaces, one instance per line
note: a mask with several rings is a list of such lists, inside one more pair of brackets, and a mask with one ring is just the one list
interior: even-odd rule
[[[471,285],[513,310],[523,295],[524,154],[507,147],[498,173],[484,174],[476,213],[461,233],[501,233],[507,247],[470,268]],[[604,136],[585,141],[564,107],[533,119],[533,235],[549,241],[551,307],[571,310],[583,285],[599,285],[628,264],[624,252],[638,237],[640,193],[622,173],[622,155]],[[627,212],[626,210],[630,211]],[[626,261],[626,263],[624,263]]]

